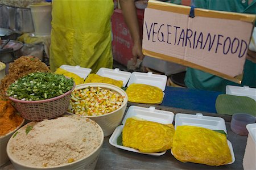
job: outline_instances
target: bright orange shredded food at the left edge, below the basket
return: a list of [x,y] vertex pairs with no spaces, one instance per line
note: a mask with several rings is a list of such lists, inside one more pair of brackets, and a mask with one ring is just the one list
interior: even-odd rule
[[22,123],[23,118],[16,112],[10,101],[0,100],[0,136],[13,131]]

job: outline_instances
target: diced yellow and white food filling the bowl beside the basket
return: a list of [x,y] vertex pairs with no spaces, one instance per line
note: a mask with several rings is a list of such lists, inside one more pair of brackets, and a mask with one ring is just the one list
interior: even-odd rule
[[71,109],[68,111],[83,116],[99,116],[120,108],[122,95],[101,87],[86,87],[74,90],[71,97]]

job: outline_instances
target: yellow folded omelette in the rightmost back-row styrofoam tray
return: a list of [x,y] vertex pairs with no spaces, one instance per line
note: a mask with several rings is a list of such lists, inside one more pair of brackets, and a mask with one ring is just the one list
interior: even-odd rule
[[125,92],[133,103],[159,104],[163,100],[163,91],[147,84],[130,84]]

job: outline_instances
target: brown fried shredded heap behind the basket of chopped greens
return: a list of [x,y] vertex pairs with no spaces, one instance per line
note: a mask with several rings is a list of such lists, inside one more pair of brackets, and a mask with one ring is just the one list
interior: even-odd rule
[[9,65],[9,74],[1,80],[0,90],[2,99],[7,99],[6,90],[10,84],[14,83],[15,80],[35,72],[51,72],[47,65],[39,60],[39,58],[33,56],[22,56],[15,59],[14,62]]

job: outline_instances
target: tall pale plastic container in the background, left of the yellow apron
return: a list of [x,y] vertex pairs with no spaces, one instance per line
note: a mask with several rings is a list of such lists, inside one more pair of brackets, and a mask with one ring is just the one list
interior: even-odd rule
[[36,36],[51,35],[52,6],[51,3],[42,2],[30,5],[32,20]]

